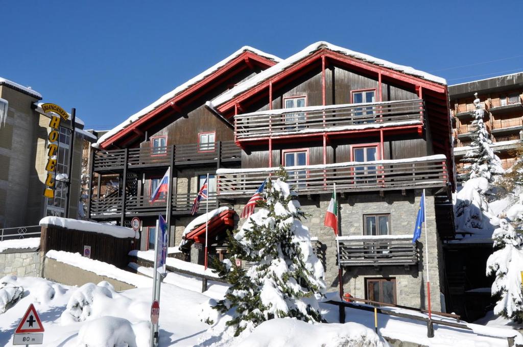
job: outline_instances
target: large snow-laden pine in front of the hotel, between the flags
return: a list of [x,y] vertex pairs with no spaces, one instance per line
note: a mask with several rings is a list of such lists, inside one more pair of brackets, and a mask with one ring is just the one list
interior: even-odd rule
[[[317,302],[325,291],[323,266],[312,251],[309,229],[300,222],[305,214],[287,178],[281,167],[269,178],[258,211],[229,234],[231,258],[215,262],[232,286],[214,308],[232,316],[226,325],[235,336],[272,318],[323,320]],[[236,259],[254,265],[233,266]]]

